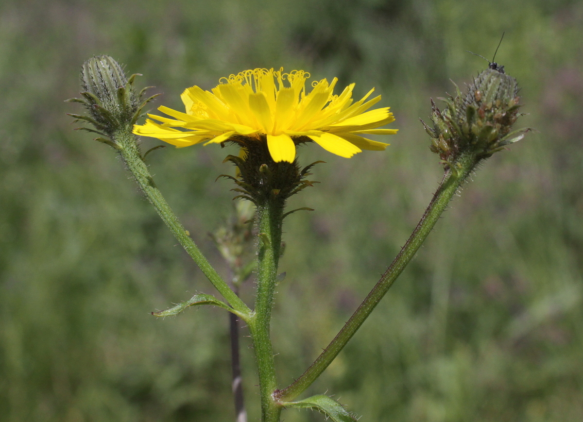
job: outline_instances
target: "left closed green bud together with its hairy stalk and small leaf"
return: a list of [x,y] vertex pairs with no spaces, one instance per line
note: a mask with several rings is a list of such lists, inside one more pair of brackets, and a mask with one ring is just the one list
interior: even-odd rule
[[[132,129],[136,120],[141,117],[142,108],[156,96],[149,97],[140,103],[142,94],[147,88],[142,89],[136,95],[134,90],[135,76],[137,74],[126,78],[121,66],[109,56],[90,58],[83,64],[81,72],[83,89],[81,95],[83,98],[69,100],[85,105],[87,115],[70,115],[77,120],[91,123],[95,128],[83,129],[108,137],[108,139],[97,138],[97,140],[107,143],[117,150],[121,160],[161,219],[217,291],[230,304],[227,306],[209,295],[195,295],[191,301],[184,302],[171,310],[176,313],[192,305],[213,304],[226,307],[229,311],[237,314],[239,318],[248,321],[251,310],[216,272],[196,246],[189,231],[182,226],[176,214],[173,213],[148,170],[144,160],[147,153],[142,155],[140,152],[138,140],[132,133]],[[170,314],[167,313],[167,315]]]

